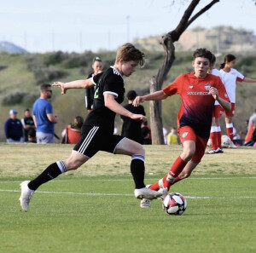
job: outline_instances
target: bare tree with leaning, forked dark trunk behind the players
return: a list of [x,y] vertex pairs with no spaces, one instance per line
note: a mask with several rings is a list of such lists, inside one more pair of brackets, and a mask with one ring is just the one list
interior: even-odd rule
[[[167,73],[172,67],[172,63],[175,60],[175,47],[173,43],[178,41],[179,37],[194,20],[196,20],[199,16],[201,16],[201,14],[204,14],[208,9],[210,9],[213,4],[218,3],[219,0],[212,0],[203,9],[191,17],[199,2],[200,0],[191,0],[189,7],[185,10],[183,17],[177,25],[176,29],[174,29],[172,32],[168,32],[161,38],[160,44],[165,50],[165,58],[157,75],[150,79],[150,93],[158,91],[162,88]],[[152,129],[152,144],[164,144],[161,115],[161,101],[150,101],[150,126]]]

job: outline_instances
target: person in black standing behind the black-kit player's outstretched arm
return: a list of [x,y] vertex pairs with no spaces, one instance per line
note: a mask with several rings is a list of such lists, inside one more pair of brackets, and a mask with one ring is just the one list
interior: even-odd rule
[[[102,69],[103,69],[102,59],[100,57],[95,57],[91,67],[93,69],[93,72],[91,72],[87,78],[93,78],[94,76],[102,72]],[[88,112],[91,112],[93,109],[93,97],[94,97],[95,89],[96,89],[96,86],[90,87],[85,91],[85,107],[88,110]]]

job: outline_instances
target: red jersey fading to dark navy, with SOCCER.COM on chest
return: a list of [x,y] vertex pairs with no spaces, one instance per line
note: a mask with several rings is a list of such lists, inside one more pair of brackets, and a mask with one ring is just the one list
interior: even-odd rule
[[166,95],[181,96],[182,105],[177,114],[178,128],[188,125],[195,130],[196,135],[209,137],[215,102],[209,94],[211,87],[218,89],[219,97],[230,101],[221,79],[212,74],[207,74],[206,78],[196,78],[194,72],[183,74],[163,89]]

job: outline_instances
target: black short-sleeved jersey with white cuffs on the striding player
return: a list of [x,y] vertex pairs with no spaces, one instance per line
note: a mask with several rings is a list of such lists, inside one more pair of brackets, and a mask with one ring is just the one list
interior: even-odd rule
[[102,128],[104,132],[113,135],[115,112],[105,106],[104,93],[113,94],[119,104],[124,101],[125,83],[121,74],[110,66],[105,72],[93,77],[96,83],[94,93],[93,111],[84,121],[84,125],[94,125]]

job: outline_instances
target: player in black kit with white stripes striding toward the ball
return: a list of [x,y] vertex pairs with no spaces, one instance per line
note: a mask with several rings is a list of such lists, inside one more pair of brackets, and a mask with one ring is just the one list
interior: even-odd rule
[[123,76],[131,76],[132,72],[136,71],[137,65],[143,66],[143,64],[144,54],[131,43],[125,43],[117,52],[114,66],[108,67],[105,72],[86,80],[52,84],[61,88],[62,95],[66,94],[67,89],[87,89],[96,85],[93,111],[85,119],[81,138],[69,158],[50,164],[32,181],[21,182],[20,205],[22,210],[28,210],[30,199],[38,187],[67,170],[78,169],[98,151],[131,156],[131,174],[135,182],[136,198],[154,199],[163,194],[163,189],[154,191],[145,187],[143,146],[126,137],[113,135],[116,113],[139,121],[146,120],[144,115],[129,112],[120,105],[125,95]]

